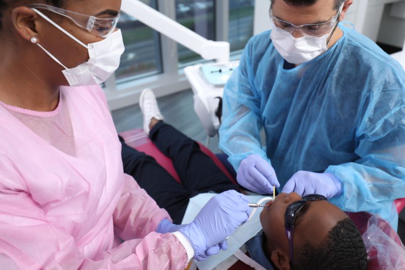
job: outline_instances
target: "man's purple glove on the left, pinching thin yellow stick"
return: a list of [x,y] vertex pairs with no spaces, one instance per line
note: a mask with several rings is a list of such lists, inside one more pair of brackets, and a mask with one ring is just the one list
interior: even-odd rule
[[236,180],[241,186],[258,194],[272,194],[273,186],[280,186],[273,167],[257,154],[242,160]]

